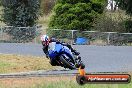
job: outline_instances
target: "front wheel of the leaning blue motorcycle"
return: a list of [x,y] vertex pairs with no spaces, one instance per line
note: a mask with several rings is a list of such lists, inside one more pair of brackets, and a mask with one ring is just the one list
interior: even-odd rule
[[76,69],[75,65],[73,64],[72,60],[69,57],[66,57],[65,55],[60,56],[60,61],[63,63],[64,67],[69,69]]

